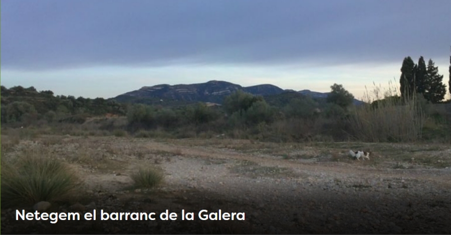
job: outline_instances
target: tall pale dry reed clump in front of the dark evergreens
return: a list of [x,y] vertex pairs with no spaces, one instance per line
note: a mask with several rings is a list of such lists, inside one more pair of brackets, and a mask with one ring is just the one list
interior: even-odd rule
[[416,141],[421,139],[425,114],[418,97],[402,99],[398,88],[389,82],[383,96],[381,87],[366,91],[365,104],[355,108],[349,118],[355,137],[366,142]]

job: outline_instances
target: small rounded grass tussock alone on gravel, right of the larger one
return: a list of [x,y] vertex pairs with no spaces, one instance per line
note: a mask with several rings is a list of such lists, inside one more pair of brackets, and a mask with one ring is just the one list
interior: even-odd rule
[[163,172],[155,167],[141,167],[131,175],[137,188],[152,188],[163,181]]

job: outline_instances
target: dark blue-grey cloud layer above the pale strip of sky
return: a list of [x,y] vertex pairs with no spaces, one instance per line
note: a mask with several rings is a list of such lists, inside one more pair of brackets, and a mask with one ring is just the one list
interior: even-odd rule
[[2,0],[9,69],[446,57],[449,0]]

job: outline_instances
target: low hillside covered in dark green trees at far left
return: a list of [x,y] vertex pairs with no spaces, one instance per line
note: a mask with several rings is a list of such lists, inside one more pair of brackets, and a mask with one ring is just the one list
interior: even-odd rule
[[57,95],[51,90],[38,92],[35,87],[1,86],[1,122],[29,125],[33,120],[44,122],[83,123],[87,117],[124,115],[125,104],[104,98],[83,98]]

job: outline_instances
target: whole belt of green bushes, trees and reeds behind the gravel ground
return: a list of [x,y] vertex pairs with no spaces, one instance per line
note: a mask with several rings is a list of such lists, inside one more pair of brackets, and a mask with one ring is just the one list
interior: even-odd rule
[[[404,68],[413,64],[408,61],[406,57]],[[336,83],[327,98],[312,98],[294,91],[269,96],[237,91],[226,96],[222,105],[198,102],[182,106],[75,99],[54,96],[52,91],[38,92],[34,87],[2,87],[2,123],[3,129],[28,126],[30,133],[84,136],[222,136],[275,142],[448,141],[449,112],[445,106],[428,101],[439,99],[435,95],[439,92],[433,92],[430,84],[438,82],[441,76],[431,60],[424,73],[422,61],[420,57],[419,65],[413,64],[410,73],[406,70],[404,74],[424,75],[423,83],[412,86],[423,93],[402,94],[390,84],[392,87],[385,93],[375,87],[374,97],[367,92],[363,104],[353,104],[353,95]]]

